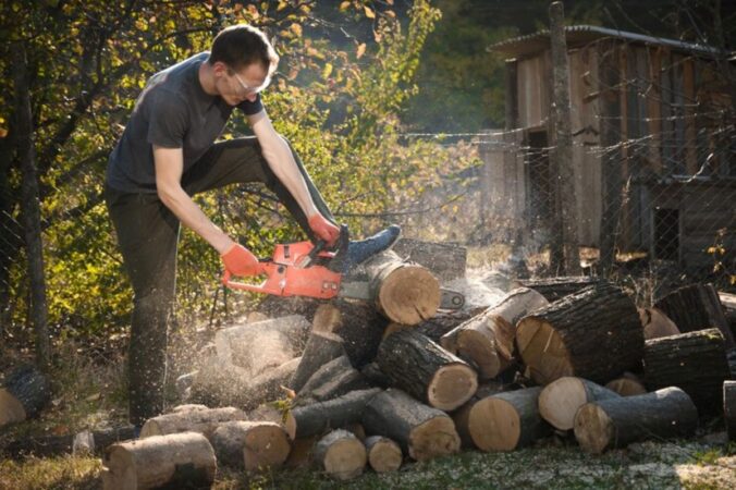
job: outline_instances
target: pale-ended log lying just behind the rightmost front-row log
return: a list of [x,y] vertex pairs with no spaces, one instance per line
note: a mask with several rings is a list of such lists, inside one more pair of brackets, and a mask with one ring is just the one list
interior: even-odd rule
[[618,396],[587,379],[566,376],[544,387],[539,395],[539,415],[555,429],[572,430],[575,414],[582,405]]

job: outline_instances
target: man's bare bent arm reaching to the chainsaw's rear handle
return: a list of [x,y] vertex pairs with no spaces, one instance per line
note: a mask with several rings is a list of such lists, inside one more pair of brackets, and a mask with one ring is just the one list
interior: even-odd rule
[[163,148],[154,145],[156,162],[156,188],[161,201],[199,236],[205,238],[220,255],[235,244],[222,230],[212,223],[182,188],[184,156],[181,148]]

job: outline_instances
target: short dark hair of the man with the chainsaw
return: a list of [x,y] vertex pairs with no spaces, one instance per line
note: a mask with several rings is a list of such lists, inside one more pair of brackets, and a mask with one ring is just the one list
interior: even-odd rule
[[248,24],[237,24],[220,30],[207,60],[210,64],[223,62],[232,70],[260,63],[271,76],[279,64],[279,54],[266,35]]

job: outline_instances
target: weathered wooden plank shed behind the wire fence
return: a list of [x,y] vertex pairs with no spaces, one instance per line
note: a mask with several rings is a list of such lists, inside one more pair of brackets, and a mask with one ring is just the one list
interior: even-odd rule
[[[704,247],[725,228],[736,248],[734,81],[722,74],[724,62],[736,73],[733,60],[708,46],[623,30],[565,32],[580,245],[615,236],[620,252],[696,266],[710,259]],[[489,212],[543,230],[554,209],[550,35],[489,50],[507,58],[506,131],[484,152],[483,185],[496,204]]]

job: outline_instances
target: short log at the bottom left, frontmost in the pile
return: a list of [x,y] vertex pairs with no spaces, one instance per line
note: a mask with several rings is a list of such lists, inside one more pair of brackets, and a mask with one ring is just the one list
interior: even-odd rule
[[196,432],[112,444],[102,464],[106,490],[210,488],[217,471],[212,445]]

